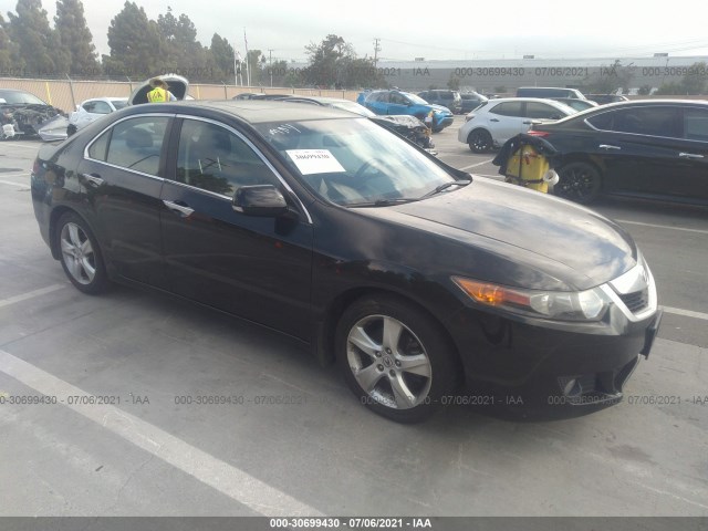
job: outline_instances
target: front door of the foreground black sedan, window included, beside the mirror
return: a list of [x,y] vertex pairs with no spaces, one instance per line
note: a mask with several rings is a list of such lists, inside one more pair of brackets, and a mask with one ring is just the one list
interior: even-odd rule
[[[232,208],[241,186],[284,181],[236,129],[179,119],[163,189],[163,249],[170,291],[309,339],[312,223],[301,205],[292,218]],[[175,142],[174,140],[174,142]],[[170,157],[171,158],[171,157]]]

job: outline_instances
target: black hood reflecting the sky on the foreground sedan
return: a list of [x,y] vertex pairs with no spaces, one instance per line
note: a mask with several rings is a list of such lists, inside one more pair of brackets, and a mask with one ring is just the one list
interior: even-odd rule
[[499,267],[485,268],[488,278],[478,280],[501,284],[585,290],[636,263],[632,238],[584,207],[482,177],[452,190],[421,201],[367,208],[366,215],[457,243],[445,257],[454,274],[473,274],[479,253],[494,257]]

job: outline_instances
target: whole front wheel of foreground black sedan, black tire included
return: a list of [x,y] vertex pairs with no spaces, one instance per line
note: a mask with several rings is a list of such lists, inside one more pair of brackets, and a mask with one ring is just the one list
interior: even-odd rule
[[439,325],[406,301],[360,299],[340,319],[335,350],[362,404],[398,423],[419,423],[456,391],[457,357]]

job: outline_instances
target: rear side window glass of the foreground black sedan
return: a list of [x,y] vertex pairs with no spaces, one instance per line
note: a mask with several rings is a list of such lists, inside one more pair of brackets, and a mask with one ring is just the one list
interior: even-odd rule
[[103,133],[88,148],[88,156],[148,175],[159,174],[167,116],[124,119]]

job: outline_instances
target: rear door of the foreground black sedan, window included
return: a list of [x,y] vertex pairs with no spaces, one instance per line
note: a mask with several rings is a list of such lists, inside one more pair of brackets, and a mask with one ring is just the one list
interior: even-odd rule
[[127,117],[102,133],[79,166],[92,228],[118,274],[164,288],[159,211],[170,115]]

